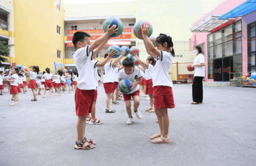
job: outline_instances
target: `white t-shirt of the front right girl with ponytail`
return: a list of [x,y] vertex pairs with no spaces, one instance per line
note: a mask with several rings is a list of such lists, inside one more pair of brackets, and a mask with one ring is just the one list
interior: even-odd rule
[[160,51],[159,60],[156,61],[152,72],[153,87],[154,86],[170,86],[172,87],[172,79],[169,76],[172,67],[173,56],[170,52]]

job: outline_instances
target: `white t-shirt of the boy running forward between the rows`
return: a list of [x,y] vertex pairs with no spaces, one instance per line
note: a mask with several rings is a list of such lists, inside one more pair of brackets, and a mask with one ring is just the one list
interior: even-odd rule
[[[124,69],[120,70],[120,72],[118,73],[118,77],[119,79],[127,79],[127,80],[131,80],[131,82],[136,82],[137,80],[139,79],[142,79],[142,75],[141,75],[141,72],[140,72],[140,68],[138,68],[137,66],[135,66],[133,72],[130,74],[130,75],[127,75],[125,72],[124,72]],[[135,91],[138,91],[139,89],[139,86],[136,85],[134,87],[134,89],[128,93],[128,94],[132,94],[134,93]]]

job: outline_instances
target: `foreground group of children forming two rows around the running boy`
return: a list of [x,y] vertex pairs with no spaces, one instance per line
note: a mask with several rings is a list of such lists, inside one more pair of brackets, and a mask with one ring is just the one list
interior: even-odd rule
[[[147,61],[143,61],[135,53],[133,56],[140,62],[140,68],[134,65],[133,59],[127,57],[120,66],[120,59],[126,52],[122,52],[114,61],[111,58],[116,54],[113,50],[104,56],[104,60],[96,61],[96,54],[104,47],[110,39],[109,35],[117,33],[116,26],[107,27],[107,32],[93,41],[90,45],[90,34],[84,32],[76,32],[72,38],[76,52],[72,54],[79,72],[77,79],[77,89],[75,94],[76,115],[77,120],[77,140],[75,149],[92,149],[95,142],[92,139],[84,137],[86,123],[102,124],[95,117],[95,105],[97,101],[98,73],[97,66],[104,66],[104,89],[106,93],[106,113],[115,113],[116,110],[110,108],[110,103],[117,104],[116,100],[120,100],[119,91],[116,90],[118,82],[122,79],[131,80],[131,92],[123,94],[125,107],[128,114],[127,124],[132,124],[131,100],[134,100],[133,110],[138,118],[141,113],[138,110],[140,106],[139,84],[145,78],[142,89],[145,85],[145,94],[149,95],[150,108],[146,111],[156,112],[157,121],[159,123],[160,132],[150,137],[152,143],[161,144],[170,142],[168,135],[169,117],[168,109],[175,107],[172,93],[172,80],[168,72],[172,66],[172,58],[174,53],[173,42],[170,36],[160,34],[156,38],[156,47],[148,39],[148,26],[141,27],[145,48],[150,57]],[[115,69],[114,69],[115,67]],[[143,72],[142,72],[143,71]],[[144,74],[143,74],[144,73]],[[115,94],[116,91],[116,94]],[[145,96],[145,94],[143,96]],[[116,98],[115,98],[116,95]],[[154,106],[153,106],[154,104]],[[90,114],[92,117],[90,117]],[[86,120],[86,117],[89,118]]]

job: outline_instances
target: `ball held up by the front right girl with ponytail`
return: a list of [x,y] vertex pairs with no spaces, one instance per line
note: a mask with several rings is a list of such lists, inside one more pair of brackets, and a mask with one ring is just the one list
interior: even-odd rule
[[150,31],[147,34],[147,36],[150,37],[151,34],[153,33],[153,26],[150,24],[150,22],[148,22],[147,20],[139,20],[138,22],[136,22],[136,24],[134,24],[132,28],[132,31],[137,38],[143,39],[141,27],[144,27],[145,25],[149,26],[150,28]]

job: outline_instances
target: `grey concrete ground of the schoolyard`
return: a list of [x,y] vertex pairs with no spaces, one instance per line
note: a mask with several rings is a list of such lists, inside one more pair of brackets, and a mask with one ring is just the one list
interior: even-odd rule
[[86,137],[97,142],[91,150],[74,149],[74,94],[49,98],[47,91],[30,102],[29,89],[12,107],[10,94],[0,96],[0,165],[256,165],[255,88],[204,87],[204,103],[191,105],[191,86],[175,84],[171,142],[152,144],[159,126],[145,112],[149,102],[140,98],[143,117],[127,125],[123,101],[111,105],[115,114],[105,113],[101,85],[96,113],[104,124],[86,125]]

